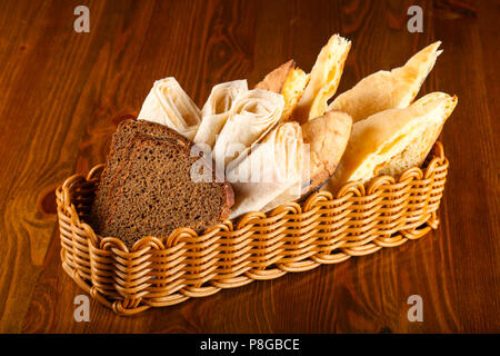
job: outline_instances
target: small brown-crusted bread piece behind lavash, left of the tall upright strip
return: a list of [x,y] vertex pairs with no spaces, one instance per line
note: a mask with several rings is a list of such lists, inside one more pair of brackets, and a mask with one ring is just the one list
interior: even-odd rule
[[266,89],[283,96],[284,108],[281,121],[287,121],[299,103],[310,78],[311,76],[297,67],[291,59],[268,73],[262,81],[256,85],[256,89]]

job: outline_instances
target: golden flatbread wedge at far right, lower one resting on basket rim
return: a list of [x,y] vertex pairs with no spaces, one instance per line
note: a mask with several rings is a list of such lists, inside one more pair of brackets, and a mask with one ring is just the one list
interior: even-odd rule
[[352,126],[346,152],[327,189],[348,181],[368,182],[380,174],[401,174],[429,152],[457,97],[430,93],[408,108],[388,109]]

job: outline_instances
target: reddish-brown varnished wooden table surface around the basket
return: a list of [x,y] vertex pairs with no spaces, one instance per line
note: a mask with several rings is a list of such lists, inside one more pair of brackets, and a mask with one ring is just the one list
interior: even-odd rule
[[[73,30],[79,4],[88,33]],[[411,4],[421,33],[407,30]],[[499,333],[499,1],[0,1],[0,332]],[[459,97],[439,229],[134,317],[92,299],[77,323],[54,189],[104,160],[156,79],[174,76],[201,107],[213,85],[253,85],[290,58],[310,70],[336,32],[352,40],[338,92],[442,41],[420,92]],[[423,322],[408,320],[411,295]]]

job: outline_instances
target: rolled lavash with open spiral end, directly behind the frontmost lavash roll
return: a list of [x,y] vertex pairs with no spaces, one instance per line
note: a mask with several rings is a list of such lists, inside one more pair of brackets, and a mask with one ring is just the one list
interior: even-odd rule
[[268,90],[252,89],[240,95],[213,146],[212,157],[218,170],[226,171],[233,160],[236,166],[252,144],[278,125],[283,107],[283,97]]

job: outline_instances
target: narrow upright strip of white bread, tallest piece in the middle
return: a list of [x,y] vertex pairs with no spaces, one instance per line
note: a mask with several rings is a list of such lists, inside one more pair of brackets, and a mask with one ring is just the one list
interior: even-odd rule
[[333,34],[321,49],[311,70],[311,79],[292,116],[301,123],[327,112],[328,100],[339,87],[351,42]]

